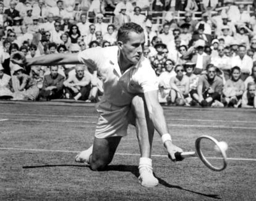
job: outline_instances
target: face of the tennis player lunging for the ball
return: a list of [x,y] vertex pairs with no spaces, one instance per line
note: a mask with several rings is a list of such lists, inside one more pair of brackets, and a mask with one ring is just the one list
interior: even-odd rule
[[135,33],[132,31],[129,33],[129,39],[126,43],[120,46],[122,55],[130,64],[135,65],[139,62],[143,53],[144,43],[144,33]]

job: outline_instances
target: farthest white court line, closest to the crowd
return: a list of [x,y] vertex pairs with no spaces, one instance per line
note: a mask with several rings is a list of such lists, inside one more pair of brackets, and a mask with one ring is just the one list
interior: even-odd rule
[[[14,116],[34,116],[34,117],[72,117],[72,118],[98,118],[97,115],[43,115],[43,114],[28,114],[28,113],[0,113],[0,115],[14,115]],[[166,118],[166,121],[207,121],[207,122],[225,122],[225,123],[256,123],[256,121],[242,121],[242,120],[201,120],[188,118]]]

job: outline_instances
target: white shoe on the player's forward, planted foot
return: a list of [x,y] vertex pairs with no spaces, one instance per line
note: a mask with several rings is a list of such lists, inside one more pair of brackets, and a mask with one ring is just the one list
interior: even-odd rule
[[139,183],[142,186],[154,187],[158,185],[158,179],[153,175],[153,168],[148,165],[139,166]]

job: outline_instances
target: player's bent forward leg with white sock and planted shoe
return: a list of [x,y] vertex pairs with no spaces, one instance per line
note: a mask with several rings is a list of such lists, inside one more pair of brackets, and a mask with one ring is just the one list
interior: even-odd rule
[[132,110],[129,114],[130,123],[135,125],[140,147],[139,181],[143,186],[158,185],[158,179],[153,175],[151,162],[151,147],[155,128],[150,120],[143,95],[132,100]]

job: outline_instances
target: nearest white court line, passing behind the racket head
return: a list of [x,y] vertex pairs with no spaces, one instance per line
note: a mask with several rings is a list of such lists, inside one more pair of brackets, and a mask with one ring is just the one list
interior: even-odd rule
[[[71,151],[71,150],[53,150],[53,149],[22,149],[22,148],[7,148],[0,147],[0,150],[22,150],[29,152],[62,152],[62,153],[79,153],[79,151]],[[129,155],[129,156],[140,156],[140,154],[124,154],[124,153],[116,153],[116,155]],[[152,155],[152,157],[168,157],[167,155]],[[196,158],[196,157],[192,157]],[[222,159],[219,157],[209,157],[210,159]],[[242,161],[253,161],[256,162],[256,158],[227,158],[228,160],[242,160]]]

